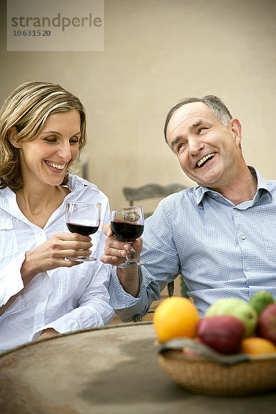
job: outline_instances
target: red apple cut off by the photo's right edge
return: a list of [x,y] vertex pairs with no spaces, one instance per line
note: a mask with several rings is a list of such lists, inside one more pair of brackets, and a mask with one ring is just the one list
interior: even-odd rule
[[257,332],[276,345],[276,304],[266,306],[259,314]]

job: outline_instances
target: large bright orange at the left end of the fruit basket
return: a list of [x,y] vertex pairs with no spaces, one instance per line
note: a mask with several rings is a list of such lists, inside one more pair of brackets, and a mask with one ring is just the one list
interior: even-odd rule
[[186,297],[168,297],[157,307],[153,323],[159,342],[175,337],[195,337],[199,313]]

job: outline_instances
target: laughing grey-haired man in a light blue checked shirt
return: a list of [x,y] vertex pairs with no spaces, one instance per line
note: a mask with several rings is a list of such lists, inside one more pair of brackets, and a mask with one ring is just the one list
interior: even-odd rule
[[[164,132],[198,186],[166,197],[146,220],[144,266],[113,268],[110,304],[117,315],[124,321],[144,315],[179,272],[201,316],[223,297],[249,300],[267,290],[276,299],[276,181],[246,166],[239,120],[217,97],[190,98],[168,112]],[[101,260],[116,266],[129,246],[112,237],[109,225],[104,231]],[[141,239],[133,247],[139,257]]]

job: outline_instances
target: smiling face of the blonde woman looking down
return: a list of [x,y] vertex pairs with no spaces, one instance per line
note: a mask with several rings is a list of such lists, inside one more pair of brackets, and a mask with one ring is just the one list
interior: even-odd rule
[[79,152],[81,118],[75,109],[50,115],[39,135],[19,141],[24,184],[59,186]]

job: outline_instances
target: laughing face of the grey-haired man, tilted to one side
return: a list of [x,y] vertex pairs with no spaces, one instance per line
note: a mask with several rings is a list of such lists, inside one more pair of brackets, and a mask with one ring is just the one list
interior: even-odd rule
[[166,137],[182,170],[200,186],[219,191],[235,177],[241,156],[237,119],[224,126],[205,103],[186,103],[170,118]]

